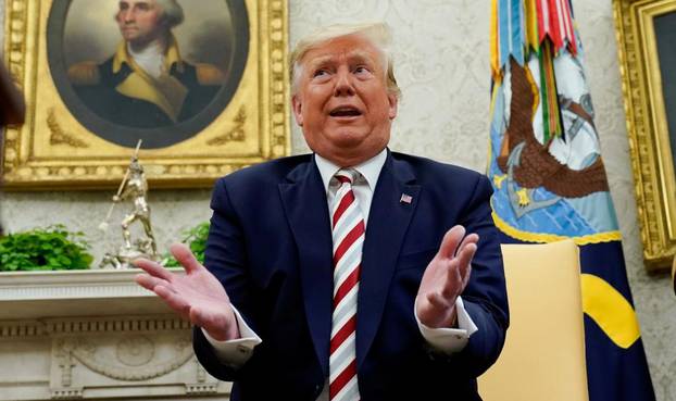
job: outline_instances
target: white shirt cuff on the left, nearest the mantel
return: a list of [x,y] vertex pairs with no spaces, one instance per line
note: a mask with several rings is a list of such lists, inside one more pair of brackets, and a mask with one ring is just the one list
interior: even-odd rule
[[[231,305],[230,305],[231,306]],[[221,363],[229,367],[241,367],[253,354],[253,348],[263,340],[247,325],[247,322],[241,317],[239,311],[235,306],[235,317],[237,319],[237,326],[239,327],[239,338],[236,340],[218,341],[211,337],[205,329],[201,328],[202,334],[206,338],[206,341],[214,348],[216,358]]]

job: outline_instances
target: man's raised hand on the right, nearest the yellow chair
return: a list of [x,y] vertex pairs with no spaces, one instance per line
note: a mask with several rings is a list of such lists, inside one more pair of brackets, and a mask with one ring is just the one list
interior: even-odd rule
[[415,312],[425,326],[437,328],[455,324],[455,300],[470,280],[478,240],[476,234],[465,237],[465,228],[460,225],[443,236],[439,252],[427,265],[417,291]]

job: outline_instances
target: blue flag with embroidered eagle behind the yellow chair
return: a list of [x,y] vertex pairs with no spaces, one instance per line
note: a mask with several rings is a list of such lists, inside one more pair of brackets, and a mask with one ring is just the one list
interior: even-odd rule
[[492,0],[490,36],[496,225],[504,242],[575,240],[589,399],[652,401],[572,4]]

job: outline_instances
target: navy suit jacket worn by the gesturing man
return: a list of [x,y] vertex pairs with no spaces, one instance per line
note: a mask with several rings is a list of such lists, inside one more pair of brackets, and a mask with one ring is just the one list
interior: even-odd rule
[[[362,400],[480,400],[476,377],[498,358],[509,324],[488,179],[476,172],[388,151],[373,193],[358,296]],[[402,202],[402,193],[412,201]],[[222,178],[205,265],[263,339],[240,368],[216,359],[201,330],[195,351],[209,373],[235,381],[233,400],[315,400],[328,376],[331,231],[311,154]],[[462,224],[480,237],[462,293],[478,326],[459,353],[429,348],[413,306],[443,234]]]

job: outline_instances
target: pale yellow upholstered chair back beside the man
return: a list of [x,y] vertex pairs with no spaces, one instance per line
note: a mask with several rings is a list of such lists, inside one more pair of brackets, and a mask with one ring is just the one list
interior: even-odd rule
[[479,377],[484,401],[588,401],[579,251],[572,240],[504,245],[510,329]]

